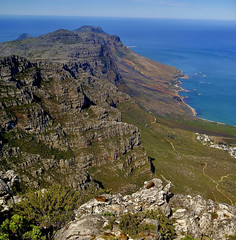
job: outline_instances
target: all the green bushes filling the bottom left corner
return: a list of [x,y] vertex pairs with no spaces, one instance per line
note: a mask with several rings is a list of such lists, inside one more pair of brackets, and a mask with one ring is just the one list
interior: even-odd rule
[[1,223],[0,239],[48,239],[74,219],[76,208],[102,192],[93,188],[75,191],[72,187],[59,185],[28,192],[14,206],[11,217]]

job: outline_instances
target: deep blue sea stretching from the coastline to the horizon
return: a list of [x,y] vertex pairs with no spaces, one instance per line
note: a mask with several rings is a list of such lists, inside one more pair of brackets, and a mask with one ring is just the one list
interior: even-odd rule
[[82,25],[116,34],[132,50],[190,78],[181,92],[197,116],[236,125],[236,22],[98,17],[0,16],[0,42]]

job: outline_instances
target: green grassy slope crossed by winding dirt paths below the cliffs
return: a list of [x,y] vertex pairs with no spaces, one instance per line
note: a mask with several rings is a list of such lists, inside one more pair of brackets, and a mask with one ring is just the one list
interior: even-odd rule
[[[119,106],[123,121],[141,131],[142,144],[153,158],[155,175],[173,182],[174,193],[200,194],[205,198],[232,204],[236,201],[236,159],[222,150],[203,146],[194,130],[235,137],[235,127],[207,121],[158,118],[134,103]],[[230,174],[230,175],[229,175]],[[217,187],[217,188],[216,188]]]

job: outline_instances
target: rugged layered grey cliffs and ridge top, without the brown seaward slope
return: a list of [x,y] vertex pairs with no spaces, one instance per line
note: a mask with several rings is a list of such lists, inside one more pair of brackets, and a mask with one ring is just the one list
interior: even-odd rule
[[[12,55],[0,61],[1,170],[14,169],[22,188],[65,183],[76,189],[97,186],[90,167],[108,165],[125,177],[149,170],[138,128],[123,123],[116,109],[130,97],[117,88],[122,79],[105,40],[59,30],[24,41],[5,50],[29,56],[37,46],[40,60]],[[68,45],[70,51],[52,54]]]

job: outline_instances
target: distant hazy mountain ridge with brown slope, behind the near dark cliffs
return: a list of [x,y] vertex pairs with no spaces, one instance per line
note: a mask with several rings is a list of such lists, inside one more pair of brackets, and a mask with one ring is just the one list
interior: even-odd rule
[[[0,51],[2,56],[18,54],[33,60],[61,63],[79,59],[103,74],[107,67],[111,67],[122,79],[117,79],[119,89],[125,90],[146,110],[159,115],[193,115],[191,108],[178,95],[178,78],[183,77],[178,69],[134,53],[122,44],[119,37],[106,34],[101,28],[60,29],[38,38],[2,43]],[[102,64],[94,66],[97,61]]]

